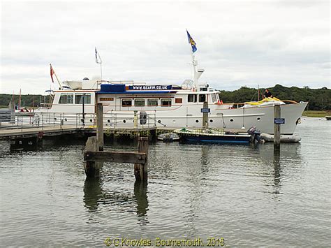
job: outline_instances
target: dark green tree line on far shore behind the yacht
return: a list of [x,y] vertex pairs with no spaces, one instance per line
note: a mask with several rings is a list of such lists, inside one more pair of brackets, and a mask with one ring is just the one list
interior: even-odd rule
[[[309,110],[331,110],[331,89],[323,87],[321,89],[310,89],[309,87],[284,87],[282,85],[275,85],[268,88],[272,95],[281,100],[293,100],[293,101],[308,101]],[[220,99],[223,103],[244,103],[247,101],[258,100],[258,90],[249,87],[241,87],[232,92],[221,90]],[[265,89],[260,89],[261,94],[265,92]],[[2,108],[8,106],[9,101],[14,97],[15,105],[18,105],[19,96],[10,94],[0,94],[0,105]],[[38,107],[41,103],[49,103],[50,96],[42,95],[22,95],[21,106],[22,107]]]

